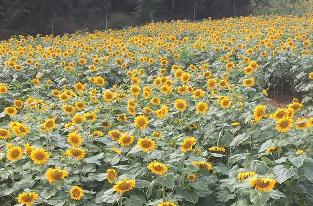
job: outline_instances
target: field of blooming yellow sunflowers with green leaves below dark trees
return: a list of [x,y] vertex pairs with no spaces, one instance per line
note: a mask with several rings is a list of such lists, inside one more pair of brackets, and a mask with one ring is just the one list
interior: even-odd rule
[[[313,1],[0,43],[1,206],[312,206]],[[301,92],[285,108],[268,92]]]

